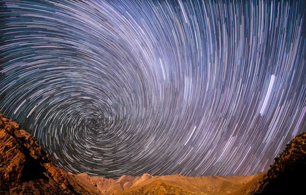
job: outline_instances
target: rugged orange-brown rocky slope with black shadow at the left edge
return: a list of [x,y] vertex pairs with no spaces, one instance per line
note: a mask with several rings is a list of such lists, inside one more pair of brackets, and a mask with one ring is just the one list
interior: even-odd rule
[[35,137],[0,114],[0,194],[95,194],[50,161]]

